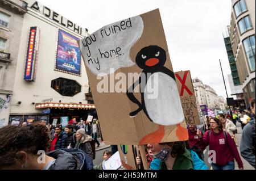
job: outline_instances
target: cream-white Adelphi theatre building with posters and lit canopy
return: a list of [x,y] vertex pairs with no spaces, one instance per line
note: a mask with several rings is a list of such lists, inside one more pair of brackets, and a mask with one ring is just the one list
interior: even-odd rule
[[74,118],[97,116],[77,44],[87,30],[38,1],[26,2],[6,124],[34,120],[67,124]]

